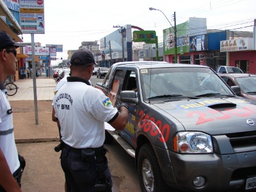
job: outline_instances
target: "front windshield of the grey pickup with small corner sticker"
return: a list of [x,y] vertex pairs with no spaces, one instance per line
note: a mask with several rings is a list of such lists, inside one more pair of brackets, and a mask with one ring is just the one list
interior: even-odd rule
[[141,69],[140,73],[144,99],[160,95],[234,95],[209,68],[147,68]]

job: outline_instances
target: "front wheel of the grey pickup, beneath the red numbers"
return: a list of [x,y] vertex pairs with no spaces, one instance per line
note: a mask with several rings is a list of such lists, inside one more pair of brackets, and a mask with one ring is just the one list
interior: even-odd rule
[[138,176],[140,188],[143,192],[170,191],[164,183],[156,154],[150,143],[146,143],[140,148]]

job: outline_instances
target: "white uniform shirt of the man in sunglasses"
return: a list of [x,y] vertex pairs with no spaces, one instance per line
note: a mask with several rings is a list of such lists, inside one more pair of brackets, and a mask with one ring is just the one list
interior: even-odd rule
[[20,167],[20,162],[13,134],[12,108],[6,92],[5,89],[0,91],[0,148],[11,172],[14,173]]

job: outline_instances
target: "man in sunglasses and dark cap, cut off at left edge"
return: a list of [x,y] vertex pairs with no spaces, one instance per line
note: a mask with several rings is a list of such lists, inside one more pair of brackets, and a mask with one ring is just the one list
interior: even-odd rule
[[4,31],[0,31],[0,191],[21,191],[20,177],[24,166],[19,161],[19,154],[13,134],[12,108],[6,97],[4,81],[8,75],[16,73],[17,44]]

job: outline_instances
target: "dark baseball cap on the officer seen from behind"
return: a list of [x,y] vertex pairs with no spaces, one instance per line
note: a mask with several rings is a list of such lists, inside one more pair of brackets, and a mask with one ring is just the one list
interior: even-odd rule
[[[75,59],[79,61],[74,61]],[[74,54],[72,54],[71,56],[70,63],[72,65],[86,65],[88,63],[94,63],[95,65],[97,65],[92,52],[88,49],[79,49],[74,52]]]

